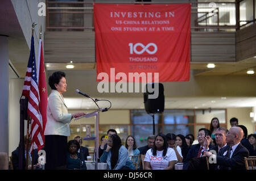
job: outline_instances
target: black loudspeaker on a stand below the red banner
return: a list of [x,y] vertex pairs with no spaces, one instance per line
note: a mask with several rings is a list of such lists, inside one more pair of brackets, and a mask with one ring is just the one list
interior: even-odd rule
[[156,84],[159,87],[159,94],[158,97],[155,99],[149,99],[149,95],[155,94],[155,91],[149,92],[148,91],[148,84],[146,85],[146,92],[144,92],[144,106],[147,113],[161,113],[164,111],[164,87],[162,83],[150,83],[150,87],[154,90]]

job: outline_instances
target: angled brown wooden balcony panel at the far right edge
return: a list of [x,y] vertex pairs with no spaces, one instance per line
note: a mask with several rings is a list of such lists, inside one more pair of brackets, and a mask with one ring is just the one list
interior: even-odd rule
[[256,55],[256,24],[237,31],[237,61]]

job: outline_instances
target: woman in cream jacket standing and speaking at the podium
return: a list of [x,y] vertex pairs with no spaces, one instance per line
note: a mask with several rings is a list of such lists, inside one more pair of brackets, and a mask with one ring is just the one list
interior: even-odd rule
[[49,77],[52,89],[48,97],[47,123],[44,131],[46,149],[46,169],[61,169],[67,167],[67,141],[70,136],[69,123],[74,117],[85,115],[84,112],[68,113],[63,92],[67,91],[65,73],[56,71]]

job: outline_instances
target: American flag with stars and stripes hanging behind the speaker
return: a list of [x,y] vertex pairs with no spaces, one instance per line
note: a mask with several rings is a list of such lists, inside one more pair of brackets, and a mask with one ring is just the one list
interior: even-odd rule
[[28,60],[27,72],[24,81],[22,95],[28,97],[28,116],[31,117],[31,148],[30,153],[34,149],[42,149],[43,142],[43,120],[39,111],[40,96],[38,90],[38,81],[36,76],[36,61],[34,36],[31,37],[30,58]]

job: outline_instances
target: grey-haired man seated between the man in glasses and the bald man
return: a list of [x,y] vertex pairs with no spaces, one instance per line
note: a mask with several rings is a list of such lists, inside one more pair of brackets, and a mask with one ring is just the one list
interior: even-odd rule
[[217,128],[216,133],[215,133],[215,138],[216,138],[216,146],[214,146],[213,150],[218,153],[220,149],[224,148],[226,146],[226,134],[228,133],[228,129],[226,128]]

